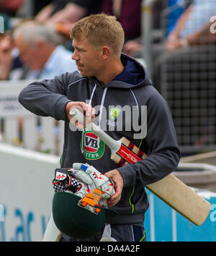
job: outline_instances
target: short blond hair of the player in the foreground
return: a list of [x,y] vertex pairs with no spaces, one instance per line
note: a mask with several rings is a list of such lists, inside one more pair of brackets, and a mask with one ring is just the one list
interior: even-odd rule
[[125,40],[122,25],[116,17],[107,14],[92,14],[73,26],[70,31],[71,39],[84,35],[92,46],[108,46],[112,54],[120,58]]

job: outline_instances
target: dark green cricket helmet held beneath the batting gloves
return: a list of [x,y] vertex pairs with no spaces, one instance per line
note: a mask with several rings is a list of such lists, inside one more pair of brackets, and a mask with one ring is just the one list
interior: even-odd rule
[[[91,206],[89,207],[91,208]],[[55,225],[63,234],[73,238],[86,239],[94,236],[103,228],[109,218],[118,214],[108,208],[86,209],[81,205],[81,197],[71,192],[56,192],[53,197]]]

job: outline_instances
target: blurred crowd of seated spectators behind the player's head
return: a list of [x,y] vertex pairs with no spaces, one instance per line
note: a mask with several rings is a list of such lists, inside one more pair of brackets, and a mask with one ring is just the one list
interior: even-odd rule
[[[141,58],[143,51],[149,51],[142,43],[141,4],[142,0],[0,0],[4,17],[0,80],[46,79],[76,70],[69,31],[82,17],[100,12],[115,15],[121,22],[125,30],[122,52]],[[153,37],[153,60],[180,48],[214,44],[216,34],[210,27],[216,19],[210,19],[215,10],[216,0],[156,1],[153,30],[163,33]]]

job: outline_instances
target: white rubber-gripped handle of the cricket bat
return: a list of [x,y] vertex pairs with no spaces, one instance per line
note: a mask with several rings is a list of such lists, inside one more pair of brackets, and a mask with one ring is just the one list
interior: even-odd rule
[[78,111],[77,108],[71,108],[69,114],[73,117],[74,120],[78,121],[81,124],[85,124],[87,129],[89,129],[91,132],[94,133],[94,135],[96,135],[101,140],[103,140],[104,143],[107,144],[107,146],[112,151],[112,154],[116,153],[120,149],[121,147],[120,140],[112,139],[112,137],[107,135],[106,132],[104,132],[101,128],[96,126],[96,124],[94,124],[93,122],[85,123],[84,114],[82,114],[81,111]]

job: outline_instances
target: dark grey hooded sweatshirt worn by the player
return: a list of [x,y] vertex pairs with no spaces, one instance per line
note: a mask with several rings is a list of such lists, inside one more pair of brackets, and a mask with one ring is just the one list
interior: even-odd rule
[[[66,73],[27,85],[19,95],[19,102],[39,116],[53,116],[56,120],[65,121],[61,167],[89,163],[102,174],[117,168],[124,187],[120,202],[111,208],[120,214],[109,223],[141,224],[148,210],[145,185],[174,171],[180,153],[168,104],[153,87],[140,62],[125,54],[121,59],[125,69],[103,87],[95,77],[82,77],[78,72]],[[69,101],[91,103],[96,108],[94,122],[99,127],[114,140],[127,137],[148,157],[133,164],[117,166],[110,159],[111,151],[102,140],[86,129],[75,130],[69,124],[65,112]],[[147,123],[144,124],[142,120],[146,118]],[[147,132],[146,129],[140,132],[144,125]]]

